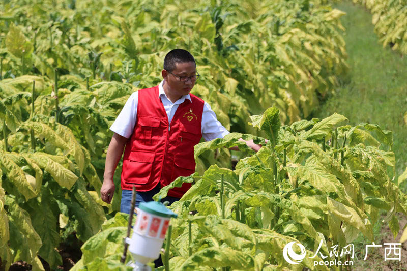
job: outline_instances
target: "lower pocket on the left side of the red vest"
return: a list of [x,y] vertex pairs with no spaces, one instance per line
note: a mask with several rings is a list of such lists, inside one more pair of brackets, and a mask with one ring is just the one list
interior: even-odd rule
[[123,161],[123,178],[126,183],[147,184],[151,177],[154,152],[132,150],[129,159]]

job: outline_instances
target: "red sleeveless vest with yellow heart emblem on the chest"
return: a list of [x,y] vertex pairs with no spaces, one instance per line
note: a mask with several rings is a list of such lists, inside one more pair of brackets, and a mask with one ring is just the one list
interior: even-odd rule
[[[194,146],[199,143],[203,100],[190,94],[168,124],[168,116],[158,86],[138,91],[134,132],[126,143],[123,157],[122,189],[150,191],[158,183],[169,185],[179,176],[195,172]],[[181,198],[191,187],[170,189],[168,196]]]

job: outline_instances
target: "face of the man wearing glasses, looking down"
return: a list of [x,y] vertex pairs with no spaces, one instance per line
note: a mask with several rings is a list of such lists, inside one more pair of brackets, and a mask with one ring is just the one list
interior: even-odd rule
[[195,81],[188,79],[186,82],[181,82],[179,77],[190,77],[194,75],[196,75],[194,62],[176,63],[176,68],[171,73],[163,70],[163,77],[168,84],[168,90],[172,95],[180,97],[189,94],[195,85]]

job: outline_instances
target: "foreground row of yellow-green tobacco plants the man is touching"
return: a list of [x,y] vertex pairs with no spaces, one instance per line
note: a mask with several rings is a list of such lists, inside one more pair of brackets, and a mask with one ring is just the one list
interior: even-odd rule
[[[329,247],[343,248],[359,234],[375,242],[372,225],[380,210],[386,210],[384,220],[397,235],[396,213],[407,213],[407,197],[387,174],[394,168],[390,131],[366,123],[342,125],[347,119],[336,113],[280,126],[273,107],[251,119],[267,144],[261,137],[231,133],[195,146],[195,157],[232,146],[251,153],[235,170],[212,165],[202,175],[179,177],[155,195],[157,200],[172,187],[193,183],[169,207],[179,215],[172,220],[170,270],[316,270],[309,257],[298,265],[287,263],[284,246],[297,241],[312,255],[322,241],[321,252],[329,255]],[[241,137],[264,146],[253,154],[238,141]],[[92,242],[106,240],[100,233]],[[88,249],[85,243],[83,253]],[[120,258],[108,252],[99,257],[109,257],[111,264]],[[74,270],[94,264],[90,258],[84,261]]]

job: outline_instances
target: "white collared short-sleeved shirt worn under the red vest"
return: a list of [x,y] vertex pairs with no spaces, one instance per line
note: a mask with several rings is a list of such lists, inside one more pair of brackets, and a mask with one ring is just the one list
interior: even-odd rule
[[[192,100],[191,96],[188,94],[183,95],[175,103],[172,103],[165,95],[163,83],[164,81],[161,81],[161,83],[158,85],[158,95],[162,101],[165,112],[167,113],[168,122],[171,123],[171,120],[175,115],[178,106],[182,104],[185,99],[188,99],[191,102]],[[119,116],[110,126],[110,130],[121,136],[130,138],[136,124],[137,104],[138,92],[134,92],[132,95],[130,95]],[[201,130],[202,137],[206,141],[210,141],[215,138],[223,138],[225,135],[229,134],[226,128],[224,128],[222,124],[216,119],[215,112],[211,109],[211,106],[207,102],[203,103]]]

